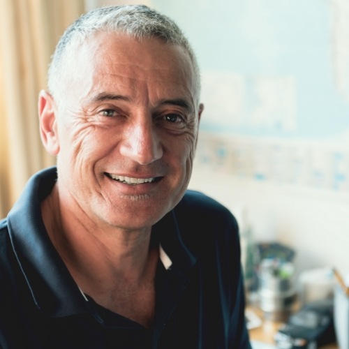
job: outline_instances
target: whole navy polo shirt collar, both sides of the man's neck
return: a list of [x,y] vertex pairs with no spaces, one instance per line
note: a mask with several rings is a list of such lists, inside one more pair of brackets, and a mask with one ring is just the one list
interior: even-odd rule
[[[56,179],[55,167],[29,179],[8,214],[8,230],[36,306],[46,315],[63,317],[89,313],[91,308],[48,237],[41,216],[40,202],[50,194]],[[195,258],[181,240],[174,211],[154,225],[153,234],[160,243],[165,269],[175,267],[185,277]]]

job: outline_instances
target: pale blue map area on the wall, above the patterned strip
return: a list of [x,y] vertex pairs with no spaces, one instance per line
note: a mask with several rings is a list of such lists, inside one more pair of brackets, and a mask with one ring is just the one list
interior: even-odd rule
[[151,3],[197,52],[203,131],[349,142],[348,0]]

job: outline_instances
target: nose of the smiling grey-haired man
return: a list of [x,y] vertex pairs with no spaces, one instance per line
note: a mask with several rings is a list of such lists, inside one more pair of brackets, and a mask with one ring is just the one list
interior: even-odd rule
[[142,116],[129,123],[120,153],[140,165],[153,163],[163,156],[161,140],[151,117]]

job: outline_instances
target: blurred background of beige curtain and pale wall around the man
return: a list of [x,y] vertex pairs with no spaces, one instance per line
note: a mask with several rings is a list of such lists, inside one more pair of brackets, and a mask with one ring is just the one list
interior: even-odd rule
[[101,5],[144,3],[197,52],[205,112],[190,187],[223,202],[248,246],[278,242],[297,273],[349,272],[347,0],[1,0],[0,213],[54,164],[37,96],[70,22]]

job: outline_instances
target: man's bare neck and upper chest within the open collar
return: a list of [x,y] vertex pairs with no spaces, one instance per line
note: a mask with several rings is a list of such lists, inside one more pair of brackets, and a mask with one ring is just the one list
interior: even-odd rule
[[151,228],[123,230],[96,223],[66,198],[59,200],[57,185],[41,210],[48,235],[80,290],[101,306],[149,327],[158,264]]

